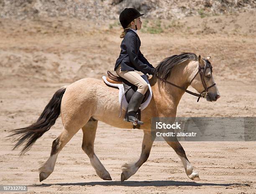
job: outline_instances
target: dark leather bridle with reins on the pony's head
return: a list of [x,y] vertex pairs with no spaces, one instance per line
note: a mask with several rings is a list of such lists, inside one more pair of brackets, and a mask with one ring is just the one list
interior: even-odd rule
[[[197,102],[198,102],[200,98],[206,98],[207,94],[209,93],[209,89],[210,89],[211,87],[213,87],[213,86],[216,85],[216,84],[214,83],[214,84],[212,84],[211,86],[207,87],[207,84],[206,84],[206,82],[205,82],[204,75],[205,75],[205,71],[206,71],[207,68],[210,68],[211,73],[212,73],[212,65],[211,65],[210,61],[208,61],[208,60],[206,60],[206,59],[203,59],[203,60],[206,62],[205,66],[204,66],[204,67],[201,67],[201,66],[198,64],[198,71],[197,71],[197,73],[195,74],[195,76],[193,77],[193,79],[192,79],[192,80],[190,81],[190,83],[189,83],[189,85],[190,85],[191,82],[195,79],[195,77],[196,77],[197,74],[199,73],[200,78],[201,78],[202,85],[203,85],[203,87],[204,87],[204,90],[203,90],[200,94],[197,94],[197,93],[195,93],[195,92],[191,92],[191,91],[185,89],[184,87],[177,86],[176,84],[173,84],[172,82],[168,82],[167,80],[165,80],[165,79],[163,79],[163,78],[161,78],[161,77],[158,77],[157,75],[156,75],[156,77],[157,77],[158,79],[160,79],[161,81],[163,81],[163,82],[166,82],[166,83],[168,83],[168,84],[171,84],[171,85],[173,85],[173,86],[175,86],[175,87],[177,87],[177,88],[179,88],[179,89],[184,90],[185,92],[187,92],[187,93],[189,93],[189,94],[192,94],[193,96],[198,97],[198,99],[197,99]],[[202,69],[203,69],[203,71],[202,71]]]

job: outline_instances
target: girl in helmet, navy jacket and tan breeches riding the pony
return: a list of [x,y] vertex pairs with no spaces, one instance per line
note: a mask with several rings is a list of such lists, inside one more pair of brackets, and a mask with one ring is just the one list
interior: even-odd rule
[[[142,22],[140,16],[142,15],[144,14],[139,13],[134,8],[125,8],[120,13],[119,20],[123,27],[120,38],[123,38],[123,41],[114,69],[118,76],[123,77],[138,87],[127,107],[129,121],[133,123],[136,121],[136,111],[141,105],[144,94],[148,89],[147,82],[136,71],[153,75],[155,69],[140,51],[141,41],[137,35],[137,30],[141,29]],[[143,125],[143,122],[137,120],[137,124]]]

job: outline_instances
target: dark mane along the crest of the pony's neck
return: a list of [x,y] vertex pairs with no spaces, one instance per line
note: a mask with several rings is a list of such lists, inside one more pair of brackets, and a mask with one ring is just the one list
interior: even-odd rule
[[156,66],[156,75],[166,80],[171,74],[174,66],[187,60],[197,61],[197,56],[194,53],[181,53],[179,55],[167,57]]

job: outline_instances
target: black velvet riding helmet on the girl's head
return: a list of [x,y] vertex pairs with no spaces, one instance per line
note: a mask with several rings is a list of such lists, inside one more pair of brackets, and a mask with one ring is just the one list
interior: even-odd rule
[[[131,21],[140,17],[141,15],[144,15],[144,14],[139,13],[138,10],[134,8],[125,8],[119,15],[119,21],[123,26],[123,28],[126,28],[128,24],[131,23]],[[135,24],[135,28],[137,30],[136,24]]]

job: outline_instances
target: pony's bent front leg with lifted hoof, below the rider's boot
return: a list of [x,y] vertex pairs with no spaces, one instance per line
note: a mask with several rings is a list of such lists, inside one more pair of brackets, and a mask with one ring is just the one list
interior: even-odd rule
[[151,136],[151,132],[144,131],[141,156],[135,163],[125,163],[122,166],[121,182],[129,179],[133,174],[138,171],[141,165],[147,161],[154,140],[155,137]]

